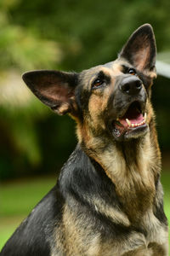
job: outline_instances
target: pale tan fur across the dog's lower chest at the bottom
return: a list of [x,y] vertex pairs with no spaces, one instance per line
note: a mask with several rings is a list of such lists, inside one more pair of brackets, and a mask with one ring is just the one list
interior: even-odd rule
[[81,218],[72,228],[70,223],[70,229],[69,223],[66,225],[65,246],[62,249],[60,247],[65,253],[54,253],[53,256],[168,256],[167,228],[161,225],[151,211],[145,214],[139,224],[139,228],[144,227],[145,235],[130,226],[129,232],[121,236],[106,235],[94,231],[94,225],[89,222],[82,227]]

